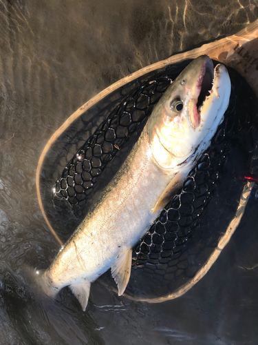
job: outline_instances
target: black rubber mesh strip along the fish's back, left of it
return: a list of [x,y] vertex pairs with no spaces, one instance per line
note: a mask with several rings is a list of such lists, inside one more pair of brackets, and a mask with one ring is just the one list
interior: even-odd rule
[[55,196],[67,199],[79,214],[107,163],[146,121],[171,81],[163,73],[129,93],[69,161],[56,181]]

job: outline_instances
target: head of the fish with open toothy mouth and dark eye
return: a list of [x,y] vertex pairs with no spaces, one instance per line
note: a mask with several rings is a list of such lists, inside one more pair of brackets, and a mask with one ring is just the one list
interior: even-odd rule
[[164,92],[147,122],[156,163],[180,166],[208,147],[228,108],[231,83],[226,67],[197,57]]

